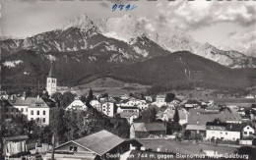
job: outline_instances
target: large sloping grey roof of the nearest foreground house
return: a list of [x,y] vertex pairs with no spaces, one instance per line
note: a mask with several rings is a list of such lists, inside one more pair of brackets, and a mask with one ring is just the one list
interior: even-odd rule
[[74,141],[96,152],[98,155],[103,155],[125,141],[125,139],[103,130]]

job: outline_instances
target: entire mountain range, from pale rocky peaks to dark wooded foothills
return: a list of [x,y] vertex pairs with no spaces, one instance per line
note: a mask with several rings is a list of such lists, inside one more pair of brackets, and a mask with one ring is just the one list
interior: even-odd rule
[[[231,69],[256,67],[254,57],[196,42],[185,34],[159,35],[129,15],[94,21],[82,15],[59,29],[2,40],[0,47],[6,87],[44,81],[52,61],[60,83],[70,85],[99,76],[150,84],[186,81],[217,86],[230,80],[250,85],[246,75]],[[231,80],[237,76],[239,80]]]

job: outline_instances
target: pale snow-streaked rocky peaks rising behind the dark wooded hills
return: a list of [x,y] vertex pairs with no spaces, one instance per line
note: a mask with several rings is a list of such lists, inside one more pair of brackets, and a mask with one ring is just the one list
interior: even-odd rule
[[[218,49],[208,43],[199,43],[186,33],[170,32],[160,35],[154,29],[149,29],[145,22],[147,21],[130,15],[91,20],[84,14],[74,18],[61,29],[25,39],[0,41],[0,47],[10,53],[22,49],[49,53],[107,51],[111,52],[108,59],[110,62],[126,62],[124,59],[144,60],[169,54],[167,51],[186,50],[229,68],[256,67],[255,44]],[[97,59],[98,57],[91,58],[94,61]]]

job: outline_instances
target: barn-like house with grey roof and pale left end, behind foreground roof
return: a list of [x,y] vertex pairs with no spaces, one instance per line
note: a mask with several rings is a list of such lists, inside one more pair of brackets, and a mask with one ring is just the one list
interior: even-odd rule
[[130,138],[145,138],[150,135],[162,136],[166,134],[163,123],[133,123],[130,128]]

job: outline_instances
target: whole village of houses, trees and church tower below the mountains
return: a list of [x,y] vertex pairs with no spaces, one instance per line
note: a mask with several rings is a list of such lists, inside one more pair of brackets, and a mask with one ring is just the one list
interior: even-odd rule
[[[256,144],[256,103],[220,104],[174,93],[94,95],[94,88],[82,97],[63,90],[51,69],[41,96],[1,91],[1,158],[253,158],[248,147]],[[64,95],[72,96],[60,100]],[[245,99],[253,101],[255,95]],[[76,130],[64,127],[65,116]],[[26,130],[19,121],[27,123]]]

